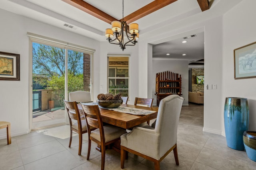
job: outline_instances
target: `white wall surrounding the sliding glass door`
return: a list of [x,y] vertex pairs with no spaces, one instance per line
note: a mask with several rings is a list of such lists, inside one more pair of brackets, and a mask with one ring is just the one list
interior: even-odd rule
[[[0,81],[0,120],[11,122],[12,136],[16,136],[28,133],[29,129],[29,39],[27,32],[96,49],[94,63],[100,63],[100,43],[2,9],[0,9],[0,16],[0,51],[20,54],[20,81]],[[94,76],[99,77],[99,71],[95,66]],[[99,80],[95,78],[94,85],[98,83]],[[0,130],[0,139],[3,138],[6,138],[6,129]]]

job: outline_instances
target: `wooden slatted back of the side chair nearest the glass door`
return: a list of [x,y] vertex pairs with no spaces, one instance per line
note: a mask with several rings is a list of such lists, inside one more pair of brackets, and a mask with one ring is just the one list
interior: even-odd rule
[[65,103],[66,109],[68,111],[68,117],[70,119],[74,119],[74,120],[81,122],[80,113],[79,113],[76,102],[69,102],[69,101],[64,100],[64,103]]

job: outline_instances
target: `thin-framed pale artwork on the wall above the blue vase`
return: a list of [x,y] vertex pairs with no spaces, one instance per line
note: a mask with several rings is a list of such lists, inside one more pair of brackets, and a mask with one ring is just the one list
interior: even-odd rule
[[256,77],[256,42],[234,49],[234,78]]

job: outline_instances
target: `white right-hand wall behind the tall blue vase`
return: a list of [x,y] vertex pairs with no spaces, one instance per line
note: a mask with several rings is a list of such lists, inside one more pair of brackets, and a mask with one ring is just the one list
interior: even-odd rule
[[[223,95],[248,98],[250,130],[256,131],[256,78],[234,80],[234,49],[256,41],[256,1],[244,0],[223,17]],[[256,62],[256,61],[254,61]],[[224,135],[224,118],[222,117]]]

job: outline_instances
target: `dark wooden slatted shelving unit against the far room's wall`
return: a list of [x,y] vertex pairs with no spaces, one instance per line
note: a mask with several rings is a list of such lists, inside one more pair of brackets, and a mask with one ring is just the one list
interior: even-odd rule
[[182,95],[181,75],[170,71],[156,73],[157,106],[163,98],[172,94]]

